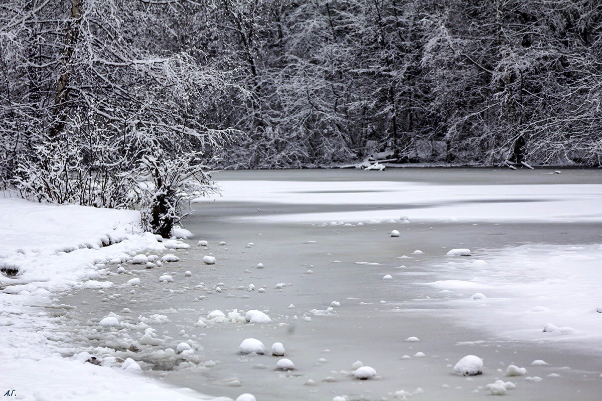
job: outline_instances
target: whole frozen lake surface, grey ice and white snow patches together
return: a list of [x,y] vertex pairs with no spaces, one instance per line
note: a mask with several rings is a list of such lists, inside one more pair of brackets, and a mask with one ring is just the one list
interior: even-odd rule
[[[516,384],[508,391],[514,399],[600,399],[601,171],[224,171],[214,178],[224,197],[193,204],[185,225],[196,236],[190,249],[175,251],[178,262],[122,265],[129,274],[110,266],[114,287],[58,302],[76,306],[61,328],[66,343],[106,347],[107,355],[140,361],[147,375],[232,399],[381,400],[396,392],[482,399],[497,378]],[[472,256],[446,256],[452,248]],[[203,263],[209,254],[215,265]],[[159,283],[166,273],[173,281]],[[132,277],[141,280],[134,293],[122,285]],[[329,310],[334,301],[340,306]],[[264,311],[272,322],[195,326],[211,311],[235,309]],[[111,312],[131,327],[91,329]],[[157,341],[140,340],[140,322]],[[238,355],[245,338],[268,350],[283,343],[296,370],[276,371],[271,355]],[[196,349],[188,362],[165,351],[182,341]],[[468,354],[483,358],[483,375],[453,375]],[[353,379],[358,360],[379,377]],[[534,360],[548,365],[530,366]],[[510,364],[527,374],[505,377]]]

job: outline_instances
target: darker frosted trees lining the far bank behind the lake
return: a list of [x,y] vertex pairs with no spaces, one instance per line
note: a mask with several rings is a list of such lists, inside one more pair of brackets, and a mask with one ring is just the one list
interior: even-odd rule
[[[250,93],[232,167],[600,165],[596,0],[223,0],[211,58]],[[199,31],[199,35],[202,32]]]

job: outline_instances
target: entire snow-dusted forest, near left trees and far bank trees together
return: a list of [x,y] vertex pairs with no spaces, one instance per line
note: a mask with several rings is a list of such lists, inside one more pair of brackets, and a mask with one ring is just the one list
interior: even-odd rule
[[0,173],[598,166],[601,63],[598,0],[2,0]]

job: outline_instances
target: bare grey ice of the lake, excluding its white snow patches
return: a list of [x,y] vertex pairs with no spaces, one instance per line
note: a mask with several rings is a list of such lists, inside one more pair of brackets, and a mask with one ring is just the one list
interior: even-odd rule
[[[542,174],[549,172],[226,171],[217,173],[215,178],[246,182],[303,181],[309,192],[312,182],[375,179],[471,185],[475,193],[482,185],[580,184],[594,188],[602,184],[600,171],[565,170],[560,176]],[[362,189],[358,188],[359,191]],[[340,189],[315,192],[318,198],[320,194],[324,197],[341,194]],[[476,290],[450,288],[442,292],[439,287],[425,285],[438,280],[470,280],[486,274],[486,266],[467,273],[458,268],[464,265],[449,265],[449,257],[445,256],[448,249],[470,248],[471,260],[488,260],[495,251],[525,244],[597,246],[602,233],[599,222],[473,222],[470,216],[461,221],[415,221],[411,204],[402,199],[399,204],[392,204],[390,200],[379,203],[379,193],[372,192],[371,203],[340,206],[326,201],[324,204],[291,204],[270,198],[228,201],[227,194],[225,201],[194,204],[197,212],[185,223],[196,237],[187,240],[190,249],[174,252],[179,262],[154,269],[124,264],[129,274],[107,277],[115,284],[113,288],[100,292],[82,289],[60,300],[59,303],[76,307],[68,312],[69,324],[61,328],[70,333],[64,341],[91,351],[89,347],[95,347],[97,354],[99,347],[105,347],[103,355],[140,361],[146,375],[178,387],[232,399],[241,393],[252,393],[259,401],[329,401],[343,395],[349,400],[393,400],[396,391],[414,393],[419,387],[424,392],[419,391],[413,399],[483,399],[491,396],[483,387],[497,378],[517,385],[506,396],[518,400],[601,399],[599,340],[546,337],[548,333],[542,332],[539,322],[533,327],[529,327],[528,322],[521,323],[527,327],[518,327],[521,331],[514,334],[512,325],[506,323],[507,317],[502,323],[494,324],[497,320],[495,299],[493,303],[467,308],[462,302]],[[541,201],[541,197],[538,200]],[[503,197],[485,202],[513,201],[518,202]],[[326,220],[312,224],[246,219],[258,215],[386,209],[407,209],[405,214],[411,222],[402,224],[399,216],[394,223],[367,224],[366,219],[364,225],[353,221],[350,226],[321,225]],[[394,229],[400,231],[400,237],[389,236],[389,231]],[[208,246],[197,246],[199,239],[206,240]],[[226,245],[219,245],[221,241]],[[247,245],[249,243],[253,245]],[[423,253],[414,253],[416,249]],[[202,261],[203,256],[210,253],[217,259],[215,265],[205,265]],[[264,268],[258,269],[258,263]],[[499,267],[492,263],[489,263],[491,269]],[[108,267],[112,272],[117,271],[117,266]],[[517,269],[518,276],[526,274],[521,272],[524,266],[520,264],[503,267],[503,271],[508,269]],[[191,272],[190,277],[185,276],[186,271]],[[159,277],[166,273],[172,275],[173,282],[159,283]],[[597,273],[592,280],[600,283],[600,271]],[[383,280],[386,274],[393,280]],[[132,277],[140,278],[140,287],[121,285]],[[532,280],[528,274],[525,277]],[[279,283],[287,286],[276,289]],[[253,284],[255,290],[247,290],[249,284]],[[262,287],[265,292],[259,292]],[[497,296],[496,291],[503,294],[497,287],[489,291],[489,295]],[[340,306],[328,310],[333,301]],[[531,306],[536,305],[537,302]],[[122,308],[129,308],[131,312],[122,313]],[[492,313],[483,313],[488,308]],[[213,310],[227,314],[234,309],[264,311],[272,323],[209,322],[207,327],[194,326],[199,317],[207,317]],[[120,331],[98,328],[98,320],[110,312],[119,314],[132,326]],[[169,322],[163,317],[153,318],[154,314],[166,316]],[[602,314],[594,311],[593,315],[602,319]],[[138,343],[144,333],[139,325],[134,326],[144,320],[138,316],[150,317],[151,320],[145,320],[147,325],[157,330],[157,337],[163,342]],[[507,329],[501,332],[500,325]],[[411,336],[420,341],[405,341]],[[245,338],[261,340],[268,354],[273,343],[283,343],[286,358],[293,361],[296,370],[276,371],[279,358],[271,355],[238,355],[238,345]],[[175,349],[178,343],[187,340],[196,349],[196,356],[189,359],[190,363],[180,365],[184,358],[164,350]],[[137,343],[137,349],[127,350],[132,341]],[[416,355],[418,352],[424,356]],[[483,358],[483,375],[473,378],[453,375],[452,366],[467,354]],[[369,381],[353,379],[349,373],[358,360],[376,369],[379,377]],[[545,360],[549,365],[530,366],[533,360]],[[504,377],[509,364],[526,367],[527,375]],[[554,373],[557,375],[548,376]],[[542,381],[529,381],[527,376],[538,376]],[[310,380],[313,382],[308,382]]]

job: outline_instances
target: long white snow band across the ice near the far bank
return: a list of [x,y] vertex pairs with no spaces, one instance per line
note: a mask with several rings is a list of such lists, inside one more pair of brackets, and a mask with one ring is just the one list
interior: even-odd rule
[[[395,181],[281,181],[226,180],[220,182],[223,197],[198,198],[196,202],[234,201],[281,204],[369,205],[421,204],[412,209],[412,220],[453,221],[462,216],[471,221],[602,221],[602,185],[503,184],[448,185]],[[362,191],[358,191],[361,188]],[[329,192],[327,195],[324,195]],[[489,202],[508,199],[504,202]],[[255,221],[323,222],[388,221],[406,210],[349,210],[344,212],[290,213],[244,216]],[[407,221],[407,219],[405,219]],[[403,221],[403,222],[405,222]],[[336,224],[336,222],[335,222]]]

